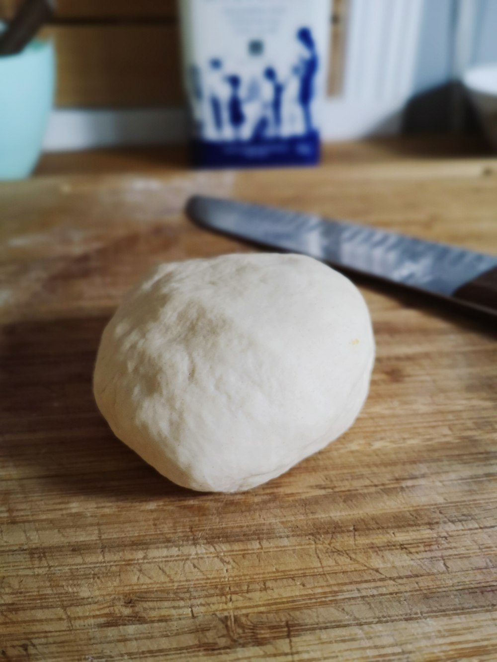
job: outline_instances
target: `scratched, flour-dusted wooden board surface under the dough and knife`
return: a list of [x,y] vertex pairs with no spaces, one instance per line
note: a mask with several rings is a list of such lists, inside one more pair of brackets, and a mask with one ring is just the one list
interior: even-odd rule
[[497,160],[402,142],[307,170],[170,157],[47,156],[51,174],[0,187],[0,660],[497,659],[489,324],[361,280],[378,357],[357,424],[238,495],[160,477],[91,395],[103,326],[148,265],[252,250],[193,227],[191,193],[496,251]]

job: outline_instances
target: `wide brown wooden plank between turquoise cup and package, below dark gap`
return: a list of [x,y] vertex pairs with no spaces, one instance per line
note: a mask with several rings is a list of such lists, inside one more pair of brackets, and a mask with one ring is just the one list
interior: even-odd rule
[[182,101],[178,29],[170,25],[49,26],[59,107],[139,107]]

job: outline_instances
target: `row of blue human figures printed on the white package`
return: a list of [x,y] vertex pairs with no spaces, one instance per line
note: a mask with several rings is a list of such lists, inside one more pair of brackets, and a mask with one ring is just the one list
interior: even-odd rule
[[197,136],[211,144],[304,140],[317,135],[312,103],[319,59],[308,27],[296,31],[299,54],[288,71],[261,62],[244,76],[227,70],[223,60],[212,57],[204,71],[189,70],[190,112]]

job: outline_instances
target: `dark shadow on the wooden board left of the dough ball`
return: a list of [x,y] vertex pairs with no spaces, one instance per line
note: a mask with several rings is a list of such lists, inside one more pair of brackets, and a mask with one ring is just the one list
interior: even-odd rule
[[121,443],[93,399],[107,317],[17,322],[0,343],[0,457],[17,478],[70,495],[123,500],[200,495]]

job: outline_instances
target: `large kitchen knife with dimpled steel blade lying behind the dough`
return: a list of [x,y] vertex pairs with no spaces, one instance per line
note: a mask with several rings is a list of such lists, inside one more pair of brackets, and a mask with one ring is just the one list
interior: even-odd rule
[[216,232],[304,253],[497,316],[497,256],[345,220],[194,196],[193,222]]

